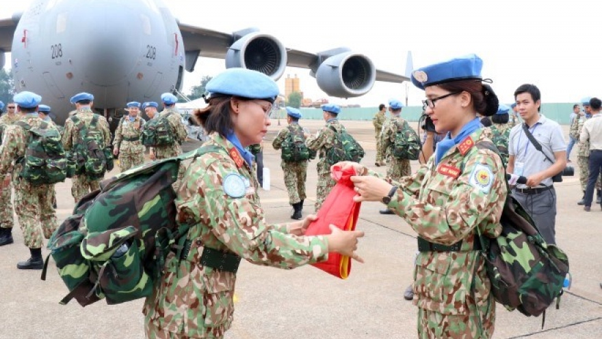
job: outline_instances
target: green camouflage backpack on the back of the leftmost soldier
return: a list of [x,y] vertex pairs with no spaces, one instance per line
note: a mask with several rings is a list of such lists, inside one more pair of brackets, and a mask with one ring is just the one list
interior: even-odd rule
[[59,131],[45,121],[36,128],[25,121],[17,121],[15,125],[29,134],[25,155],[17,160],[23,164],[20,176],[36,185],[65,181],[67,159]]

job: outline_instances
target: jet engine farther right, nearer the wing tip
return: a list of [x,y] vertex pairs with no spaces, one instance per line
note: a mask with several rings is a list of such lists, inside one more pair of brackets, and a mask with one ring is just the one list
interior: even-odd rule
[[315,79],[331,97],[351,98],[365,95],[376,80],[371,60],[352,51],[332,55],[319,65]]

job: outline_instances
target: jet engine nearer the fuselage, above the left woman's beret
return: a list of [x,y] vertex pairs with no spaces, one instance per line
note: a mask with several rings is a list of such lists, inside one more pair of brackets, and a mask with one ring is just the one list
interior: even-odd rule
[[242,67],[259,71],[274,81],[287,67],[287,50],[273,36],[252,32],[241,36],[226,52],[226,68]]

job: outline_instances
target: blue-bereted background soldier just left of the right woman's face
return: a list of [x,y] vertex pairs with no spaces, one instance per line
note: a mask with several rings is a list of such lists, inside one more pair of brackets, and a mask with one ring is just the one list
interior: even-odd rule
[[[395,158],[391,149],[395,144],[397,131],[400,131],[406,125],[406,121],[401,117],[403,107],[404,104],[399,100],[389,101],[391,119],[382,125],[382,133],[380,134],[380,153],[387,158],[387,179],[395,181],[400,181],[402,177],[412,174],[410,160]],[[389,208],[384,208],[379,212],[380,214],[394,214]]]

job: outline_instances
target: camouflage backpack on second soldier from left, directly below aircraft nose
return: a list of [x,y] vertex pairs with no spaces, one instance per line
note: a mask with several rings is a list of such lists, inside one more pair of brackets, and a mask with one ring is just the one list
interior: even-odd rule
[[73,145],[70,155],[75,161],[75,174],[86,175],[91,179],[104,177],[106,171],[111,171],[113,155],[109,148],[105,148],[103,131],[99,128],[99,115],[94,114],[90,125],[86,125],[77,115],[71,116],[77,129],[77,144]]

